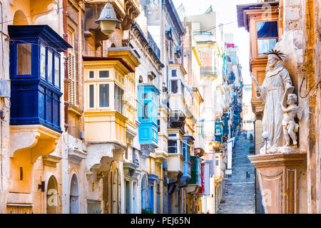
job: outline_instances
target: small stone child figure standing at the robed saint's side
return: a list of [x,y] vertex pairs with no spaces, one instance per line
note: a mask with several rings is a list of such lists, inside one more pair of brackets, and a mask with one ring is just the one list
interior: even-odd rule
[[[290,137],[292,138],[293,145],[297,145],[297,138],[295,133],[299,130],[299,125],[295,123],[295,115],[301,120],[302,118],[302,105],[295,105],[297,102],[297,95],[290,93],[287,95],[287,108],[281,104],[283,110],[282,126],[283,134],[285,136],[286,145],[290,146]],[[290,135],[290,137],[289,137]]]

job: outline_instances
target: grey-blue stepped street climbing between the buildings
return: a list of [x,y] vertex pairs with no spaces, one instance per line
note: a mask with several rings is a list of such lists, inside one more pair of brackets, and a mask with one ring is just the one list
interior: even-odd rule
[[[243,134],[235,142],[233,150],[232,176],[225,183],[225,190],[218,208],[218,214],[255,213],[255,170],[248,160],[250,140]],[[247,177],[246,172],[250,173]]]

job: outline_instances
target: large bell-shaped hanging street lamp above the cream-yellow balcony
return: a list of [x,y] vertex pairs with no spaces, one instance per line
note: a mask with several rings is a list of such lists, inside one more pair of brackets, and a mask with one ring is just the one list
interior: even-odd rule
[[116,29],[116,24],[121,24],[116,17],[116,13],[113,10],[113,6],[110,3],[106,3],[101,11],[101,16],[95,21],[96,24],[101,26],[101,32],[106,36],[110,36]]

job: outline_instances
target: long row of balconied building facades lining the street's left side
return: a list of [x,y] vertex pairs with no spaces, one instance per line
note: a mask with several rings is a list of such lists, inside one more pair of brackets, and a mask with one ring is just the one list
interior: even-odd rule
[[171,0],[0,3],[1,213],[216,212],[242,85],[215,29]]

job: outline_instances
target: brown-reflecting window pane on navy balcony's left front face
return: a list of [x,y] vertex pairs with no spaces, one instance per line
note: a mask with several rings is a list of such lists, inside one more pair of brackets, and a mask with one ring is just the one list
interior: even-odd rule
[[31,74],[31,43],[18,43],[17,48],[17,74]]

